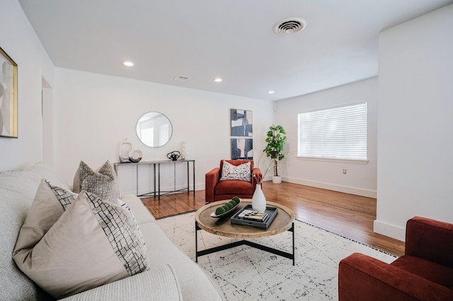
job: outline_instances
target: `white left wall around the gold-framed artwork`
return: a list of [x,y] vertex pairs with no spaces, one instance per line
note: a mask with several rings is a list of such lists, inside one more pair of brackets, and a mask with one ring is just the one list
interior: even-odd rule
[[53,84],[54,66],[16,0],[0,1],[0,47],[18,64],[18,138],[0,137],[0,170],[42,160],[42,78]]

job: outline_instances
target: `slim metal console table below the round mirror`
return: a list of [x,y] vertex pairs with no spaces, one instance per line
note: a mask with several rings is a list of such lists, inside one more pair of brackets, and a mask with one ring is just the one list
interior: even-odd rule
[[[176,164],[187,163],[187,187],[183,189],[176,189]],[[114,163],[113,167],[115,172],[118,174],[117,166],[126,166],[126,165],[135,165],[136,167],[136,177],[135,184],[137,188],[137,196],[149,196],[153,194],[157,196],[159,200],[164,194],[171,194],[178,191],[190,191],[190,167],[189,163],[192,163],[192,172],[193,172],[193,196],[195,196],[195,160],[156,160],[156,161],[140,161],[138,163]],[[173,164],[173,190],[171,191],[161,191],[161,164]],[[154,169],[154,191],[148,192],[146,194],[139,194],[139,166],[140,165],[153,165]],[[156,168],[157,167],[157,168]],[[157,191],[156,191],[156,172],[157,172]]]

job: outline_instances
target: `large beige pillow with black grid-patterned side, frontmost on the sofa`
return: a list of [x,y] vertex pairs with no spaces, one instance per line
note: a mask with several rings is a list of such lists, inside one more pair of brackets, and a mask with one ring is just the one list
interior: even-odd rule
[[53,297],[117,281],[149,266],[137,223],[121,203],[81,191],[42,239],[13,256]]

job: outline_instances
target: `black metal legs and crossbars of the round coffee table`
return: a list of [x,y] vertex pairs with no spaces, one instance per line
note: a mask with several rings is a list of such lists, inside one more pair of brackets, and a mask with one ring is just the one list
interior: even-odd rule
[[[244,226],[244,227],[248,227],[248,226]],[[256,249],[260,249],[260,250],[265,251],[265,252],[270,252],[270,253],[275,254],[275,255],[283,256],[283,257],[286,257],[288,259],[292,259],[292,265],[294,266],[296,264],[295,263],[295,258],[294,258],[295,257],[294,256],[294,254],[295,254],[295,252],[294,252],[294,222],[292,223],[291,228],[289,228],[287,230],[287,231],[292,232],[292,254],[289,253],[289,252],[285,252],[285,251],[279,250],[279,249],[274,249],[274,248],[271,248],[271,247],[264,246],[263,244],[257,244],[256,242],[251,242],[251,241],[245,240],[245,239],[244,240],[238,240],[236,242],[230,242],[229,244],[224,244],[224,245],[219,246],[219,247],[212,247],[212,248],[209,248],[209,249],[204,249],[204,250],[198,251],[198,235],[197,235],[198,230],[202,230],[202,228],[200,228],[198,226],[197,221],[195,221],[195,262],[198,262],[198,256],[204,256],[204,255],[207,255],[207,254],[212,254],[212,253],[223,251],[223,250],[226,250],[226,249],[239,247],[239,246],[242,246],[242,245],[245,244],[246,246],[249,246],[249,247],[254,247]],[[253,238],[255,238],[255,237],[253,237]]]

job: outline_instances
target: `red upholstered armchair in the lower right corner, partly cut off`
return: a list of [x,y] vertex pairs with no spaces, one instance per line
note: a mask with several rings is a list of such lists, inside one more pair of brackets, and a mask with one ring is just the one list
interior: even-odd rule
[[338,268],[338,297],[353,300],[453,300],[453,225],[415,217],[406,251],[391,264],[355,253]]

